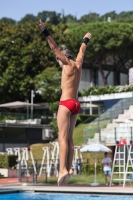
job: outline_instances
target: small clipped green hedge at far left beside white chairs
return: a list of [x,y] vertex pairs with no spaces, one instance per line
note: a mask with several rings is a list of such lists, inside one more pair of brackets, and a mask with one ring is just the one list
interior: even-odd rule
[[12,168],[15,167],[17,164],[17,158],[16,155],[0,155],[0,168]]

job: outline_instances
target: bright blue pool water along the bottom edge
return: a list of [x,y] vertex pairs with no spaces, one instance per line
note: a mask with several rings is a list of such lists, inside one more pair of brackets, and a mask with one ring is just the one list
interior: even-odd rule
[[58,193],[0,194],[0,200],[133,200],[133,196],[110,196]]

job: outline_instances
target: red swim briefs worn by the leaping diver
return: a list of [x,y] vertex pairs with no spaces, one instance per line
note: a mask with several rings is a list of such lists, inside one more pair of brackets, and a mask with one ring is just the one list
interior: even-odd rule
[[75,99],[60,101],[59,105],[67,107],[72,115],[76,115],[80,112],[80,102]]

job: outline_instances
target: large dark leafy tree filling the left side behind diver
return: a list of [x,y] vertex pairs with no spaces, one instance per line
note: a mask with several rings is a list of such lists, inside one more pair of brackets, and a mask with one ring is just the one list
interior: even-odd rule
[[[50,33],[57,43],[65,41],[65,25],[58,25]],[[57,67],[38,24],[25,23],[0,27],[0,101],[29,99],[35,89],[35,79],[47,67]]]

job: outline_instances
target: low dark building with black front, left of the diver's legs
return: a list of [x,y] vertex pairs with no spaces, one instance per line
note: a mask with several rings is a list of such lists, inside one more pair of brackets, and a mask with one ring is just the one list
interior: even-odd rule
[[49,125],[0,123],[0,152],[5,152],[6,148],[48,143],[53,139],[53,131]]

